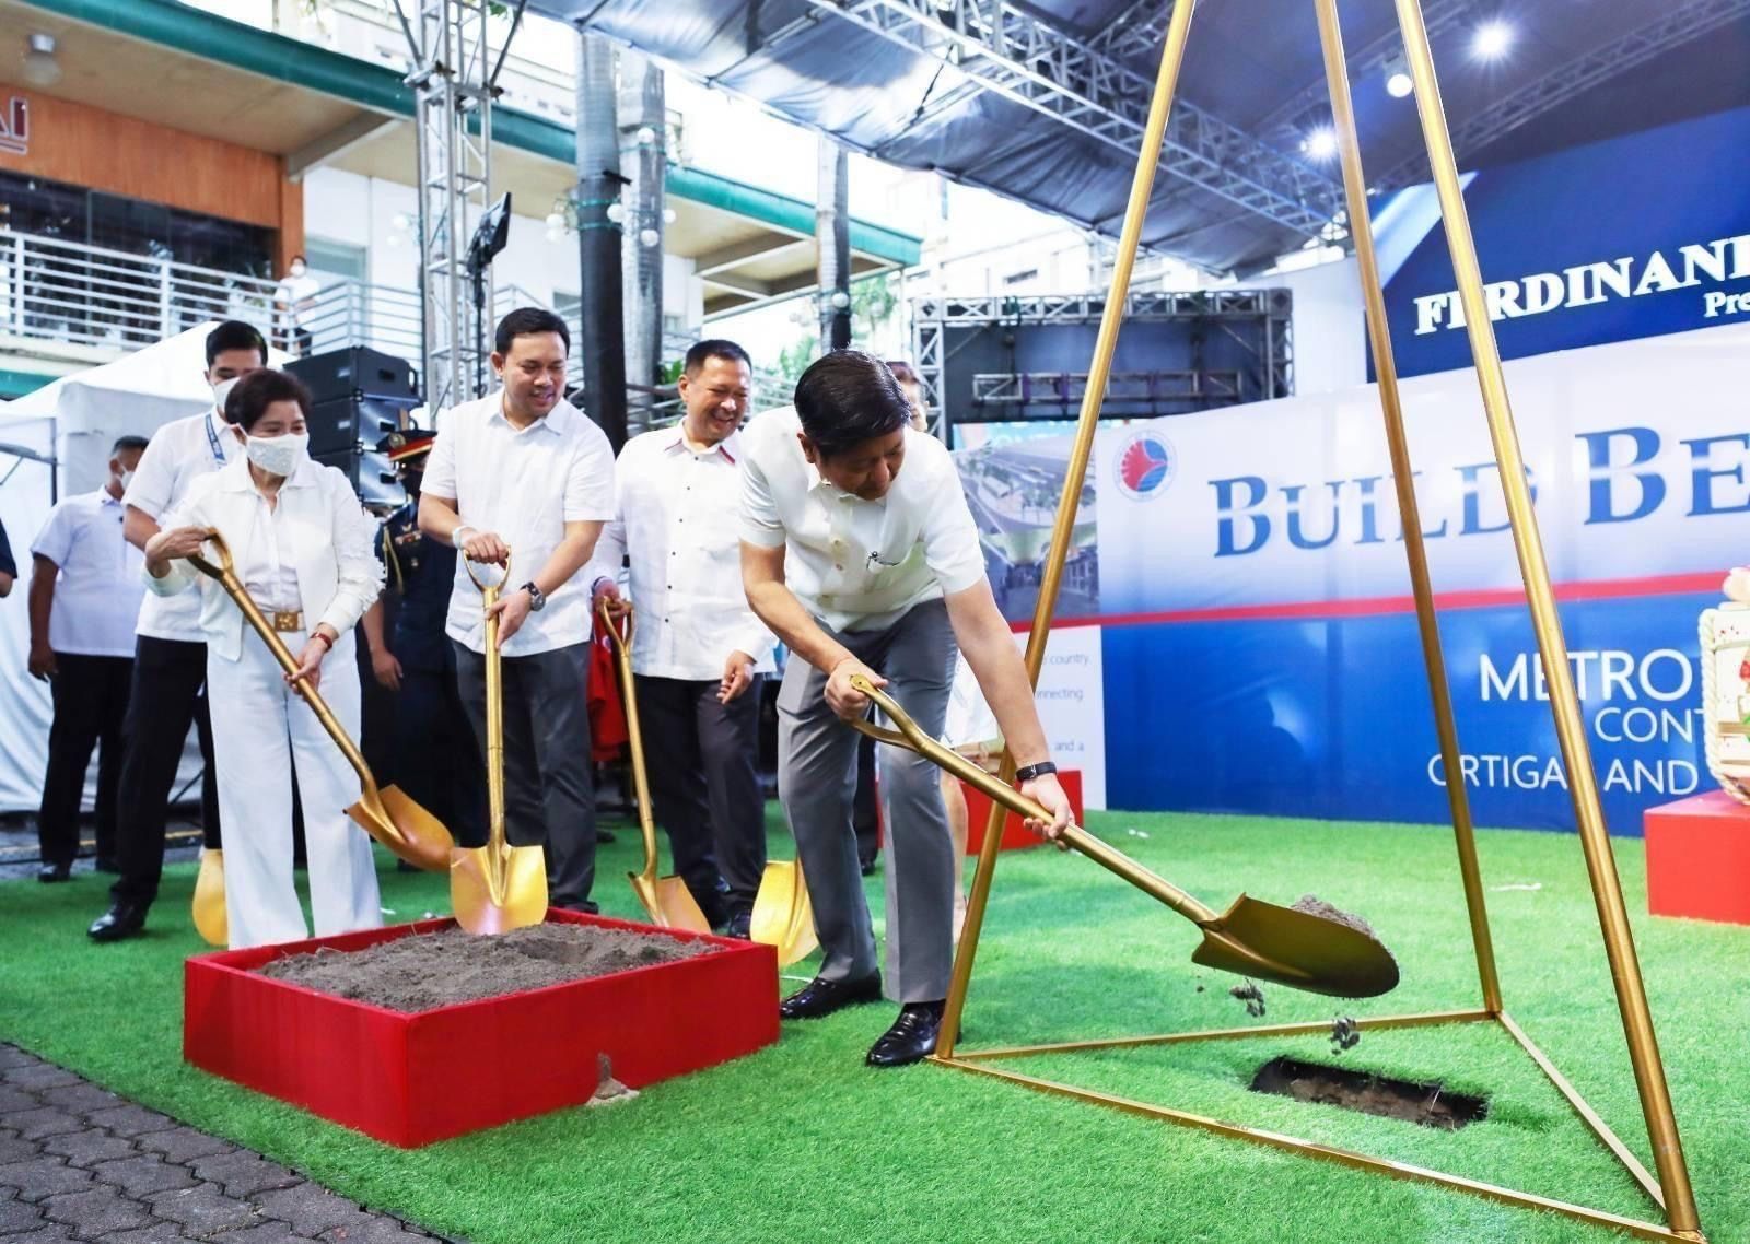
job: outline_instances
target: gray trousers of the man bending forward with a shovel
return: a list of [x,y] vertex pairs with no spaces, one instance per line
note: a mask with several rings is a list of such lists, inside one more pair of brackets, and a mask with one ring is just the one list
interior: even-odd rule
[[[948,607],[928,600],[884,630],[831,632],[887,679],[887,695],[940,737],[954,682]],[[850,814],[858,789],[858,735],[826,705],[826,675],[793,658],[777,696],[779,798],[808,880],[824,980],[861,980],[877,969],[875,933]],[[887,824],[887,996],[934,1003],[948,996],[954,966],[954,843],[938,770],[922,756],[882,744],[878,763]]]

